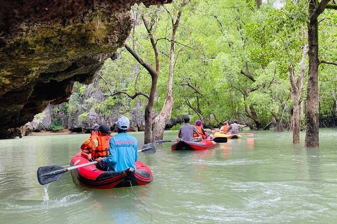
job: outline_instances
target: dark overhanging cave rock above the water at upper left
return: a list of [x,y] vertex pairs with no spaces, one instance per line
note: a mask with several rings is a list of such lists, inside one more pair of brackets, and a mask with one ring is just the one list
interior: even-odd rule
[[[32,121],[89,84],[131,31],[130,9],[172,0],[0,1],[0,127]],[[1,130],[0,130],[1,131]]]

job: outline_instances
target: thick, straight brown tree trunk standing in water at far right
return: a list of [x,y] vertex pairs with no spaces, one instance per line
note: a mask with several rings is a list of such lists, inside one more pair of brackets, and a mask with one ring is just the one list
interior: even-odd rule
[[309,71],[308,90],[306,101],[306,133],[305,146],[319,146],[318,129],[318,22],[317,19],[308,23],[308,44],[309,44]]

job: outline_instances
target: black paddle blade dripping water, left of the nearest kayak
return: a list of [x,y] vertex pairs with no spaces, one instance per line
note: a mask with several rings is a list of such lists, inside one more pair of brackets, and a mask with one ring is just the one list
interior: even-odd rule
[[61,166],[42,166],[37,169],[37,180],[41,185],[60,179],[68,169]]

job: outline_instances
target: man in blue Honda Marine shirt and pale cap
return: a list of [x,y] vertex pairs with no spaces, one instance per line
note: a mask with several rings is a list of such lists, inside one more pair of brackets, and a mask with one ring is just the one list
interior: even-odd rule
[[110,155],[106,158],[100,157],[97,161],[106,164],[108,171],[122,172],[131,167],[136,170],[138,142],[135,137],[126,133],[130,127],[130,121],[126,117],[121,117],[115,124],[115,130],[118,134],[110,140]]

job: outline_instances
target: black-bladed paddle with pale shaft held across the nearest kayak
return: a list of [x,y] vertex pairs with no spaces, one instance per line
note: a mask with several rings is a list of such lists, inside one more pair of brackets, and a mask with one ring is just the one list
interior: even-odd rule
[[[141,150],[138,150],[138,152],[143,152],[145,154],[152,154],[155,153],[155,148],[152,143],[148,143],[142,147]],[[57,165],[51,165],[51,166],[42,166],[37,169],[37,180],[41,185],[56,181],[60,179],[63,174],[69,170],[90,166],[92,164],[98,163],[97,161],[81,164],[78,166],[71,166],[68,168],[63,168],[61,166]]]

